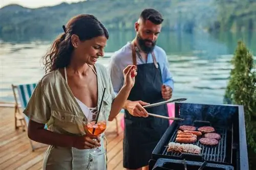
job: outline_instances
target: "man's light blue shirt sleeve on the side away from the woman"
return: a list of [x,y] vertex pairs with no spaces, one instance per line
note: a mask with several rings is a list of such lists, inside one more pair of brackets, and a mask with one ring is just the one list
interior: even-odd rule
[[166,56],[166,53],[163,51],[163,57],[164,57],[164,64],[163,64],[163,84],[170,86],[174,90],[174,80],[172,77],[172,74],[169,71],[169,63]]

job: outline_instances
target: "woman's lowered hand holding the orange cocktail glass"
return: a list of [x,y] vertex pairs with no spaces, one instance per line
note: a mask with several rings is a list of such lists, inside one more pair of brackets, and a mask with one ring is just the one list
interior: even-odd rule
[[100,138],[99,136],[94,135],[75,136],[73,140],[73,147],[80,150],[100,147]]

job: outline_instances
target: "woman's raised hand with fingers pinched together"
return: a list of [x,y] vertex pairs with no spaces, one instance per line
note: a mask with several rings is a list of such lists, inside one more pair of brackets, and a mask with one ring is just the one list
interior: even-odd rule
[[137,76],[137,67],[135,65],[128,65],[123,69],[124,86],[132,88]]

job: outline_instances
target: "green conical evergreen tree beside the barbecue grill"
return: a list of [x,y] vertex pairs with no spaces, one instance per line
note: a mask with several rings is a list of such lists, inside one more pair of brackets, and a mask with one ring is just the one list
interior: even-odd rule
[[256,72],[253,71],[253,56],[242,41],[238,42],[231,64],[233,68],[224,103],[244,106],[248,157],[252,169],[256,167]]

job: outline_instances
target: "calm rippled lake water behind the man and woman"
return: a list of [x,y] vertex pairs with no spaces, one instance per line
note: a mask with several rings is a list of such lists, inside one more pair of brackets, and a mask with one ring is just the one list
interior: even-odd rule
[[[134,35],[133,32],[110,32],[105,57],[98,62],[107,67],[111,54]],[[12,83],[34,83],[41,79],[44,75],[41,56],[52,40],[45,36],[39,40],[31,38],[29,42],[24,41],[24,37],[19,37],[18,42],[12,39],[5,37],[1,41],[0,102],[14,101]],[[161,33],[157,44],[168,56],[175,80],[174,98],[187,98],[191,103],[221,104],[231,69],[229,61],[239,39],[244,40],[256,56],[256,33]]]

